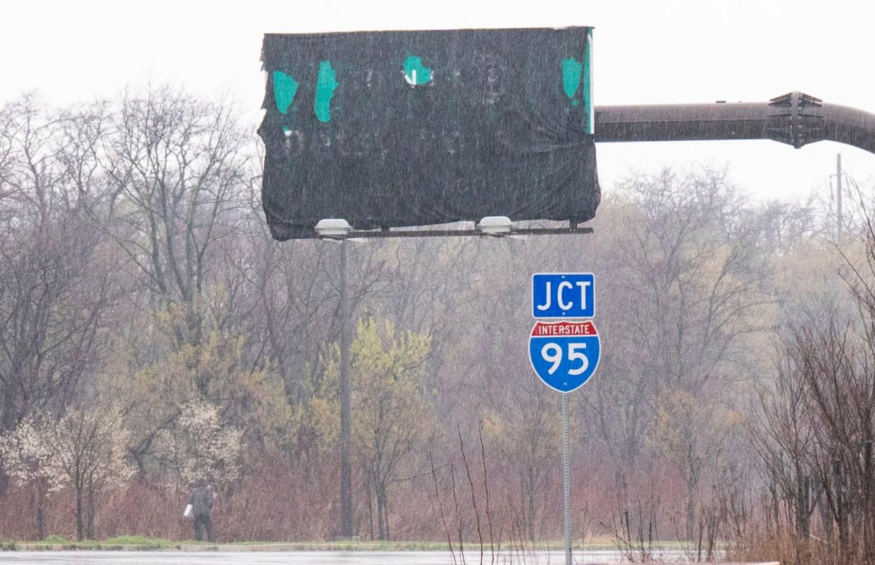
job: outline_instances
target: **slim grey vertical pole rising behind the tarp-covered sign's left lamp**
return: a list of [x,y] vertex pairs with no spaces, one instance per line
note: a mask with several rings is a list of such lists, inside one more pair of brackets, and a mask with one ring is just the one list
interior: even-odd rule
[[349,376],[349,244],[340,241],[340,537],[353,537],[353,464],[350,431],[352,380]]

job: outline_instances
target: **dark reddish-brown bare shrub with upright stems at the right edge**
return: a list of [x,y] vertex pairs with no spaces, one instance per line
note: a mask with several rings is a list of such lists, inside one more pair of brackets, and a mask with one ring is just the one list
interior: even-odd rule
[[810,558],[816,501],[831,555],[875,561],[875,232],[869,220],[859,243],[860,253],[840,250],[856,316],[830,301],[790,325],[776,386],[763,394],[752,434],[766,479],[795,522],[799,562]]

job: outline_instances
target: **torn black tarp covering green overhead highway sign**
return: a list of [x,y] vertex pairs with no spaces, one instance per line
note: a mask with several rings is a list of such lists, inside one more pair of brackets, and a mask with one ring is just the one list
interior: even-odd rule
[[591,28],[267,34],[277,240],[484,216],[589,220]]

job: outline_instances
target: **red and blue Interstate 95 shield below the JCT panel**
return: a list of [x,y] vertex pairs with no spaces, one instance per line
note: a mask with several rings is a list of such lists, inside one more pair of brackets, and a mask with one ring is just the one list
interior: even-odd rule
[[536,322],[528,338],[528,359],[541,380],[560,393],[582,387],[598,366],[601,343],[591,320]]

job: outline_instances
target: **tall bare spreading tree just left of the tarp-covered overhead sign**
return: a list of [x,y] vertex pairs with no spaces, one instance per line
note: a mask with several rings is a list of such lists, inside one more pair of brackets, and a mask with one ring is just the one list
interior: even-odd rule
[[250,138],[233,105],[170,87],[125,94],[104,143],[112,234],[159,308],[185,312],[179,344],[204,335],[204,289],[245,204]]

